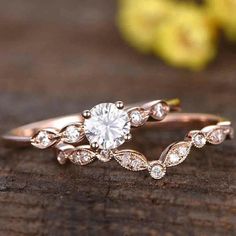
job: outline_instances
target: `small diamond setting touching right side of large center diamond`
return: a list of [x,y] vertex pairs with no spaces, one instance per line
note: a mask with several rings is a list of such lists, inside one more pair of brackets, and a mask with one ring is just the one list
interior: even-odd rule
[[149,111],[144,108],[135,107],[128,110],[130,123],[133,127],[139,127],[145,124],[149,117]]

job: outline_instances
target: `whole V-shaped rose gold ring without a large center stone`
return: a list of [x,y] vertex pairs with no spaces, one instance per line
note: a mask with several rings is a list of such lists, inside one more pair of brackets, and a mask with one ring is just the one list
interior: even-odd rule
[[[131,171],[148,170],[151,177],[161,179],[166,174],[166,169],[182,163],[193,147],[202,148],[206,144],[218,145],[226,139],[233,138],[233,128],[229,121],[222,117],[201,113],[176,113],[170,114],[158,126],[178,125],[187,123],[207,124],[200,130],[191,130],[182,141],[169,145],[160,155],[159,159],[148,161],[140,152],[135,150],[114,150],[112,152],[96,153],[89,145],[74,147],[61,144],[57,152],[57,160],[65,164],[67,160],[77,165],[87,165],[95,159],[106,162],[112,157],[124,168]],[[151,126],[151,124],[149,124]]]

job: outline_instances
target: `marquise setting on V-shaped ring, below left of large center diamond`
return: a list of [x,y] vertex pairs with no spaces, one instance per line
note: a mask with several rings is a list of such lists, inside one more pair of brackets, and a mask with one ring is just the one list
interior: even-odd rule
[[69,160],[77,165],[87,165],[94,161],[96,158],[96,153],[94,153],[89,146],[79,146],[76,148],[71,155],[69,155]]

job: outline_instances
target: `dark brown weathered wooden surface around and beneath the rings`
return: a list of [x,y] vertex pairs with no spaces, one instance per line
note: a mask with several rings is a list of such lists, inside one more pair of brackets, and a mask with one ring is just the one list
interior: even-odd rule
[[[180,97],[236,123],[236,46],[204,72],[142,56],[119,37],[115,3],[0,1],[0,132],[101,101]],[[138,135],[156,158],[178,131]],[[136,142],[135,142],[136,141]],[[163,180],[116,162],[59,166],[50,151],[0,148],[0,235],[235,235],[236,144],[196,150]]]

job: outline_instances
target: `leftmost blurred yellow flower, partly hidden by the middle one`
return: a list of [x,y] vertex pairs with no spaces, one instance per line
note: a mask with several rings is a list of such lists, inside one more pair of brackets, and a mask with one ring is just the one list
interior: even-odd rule
[[121,0],[117,23],[124,38],[142,52],[152,49],[156,29],[169,15],[168,0]]

